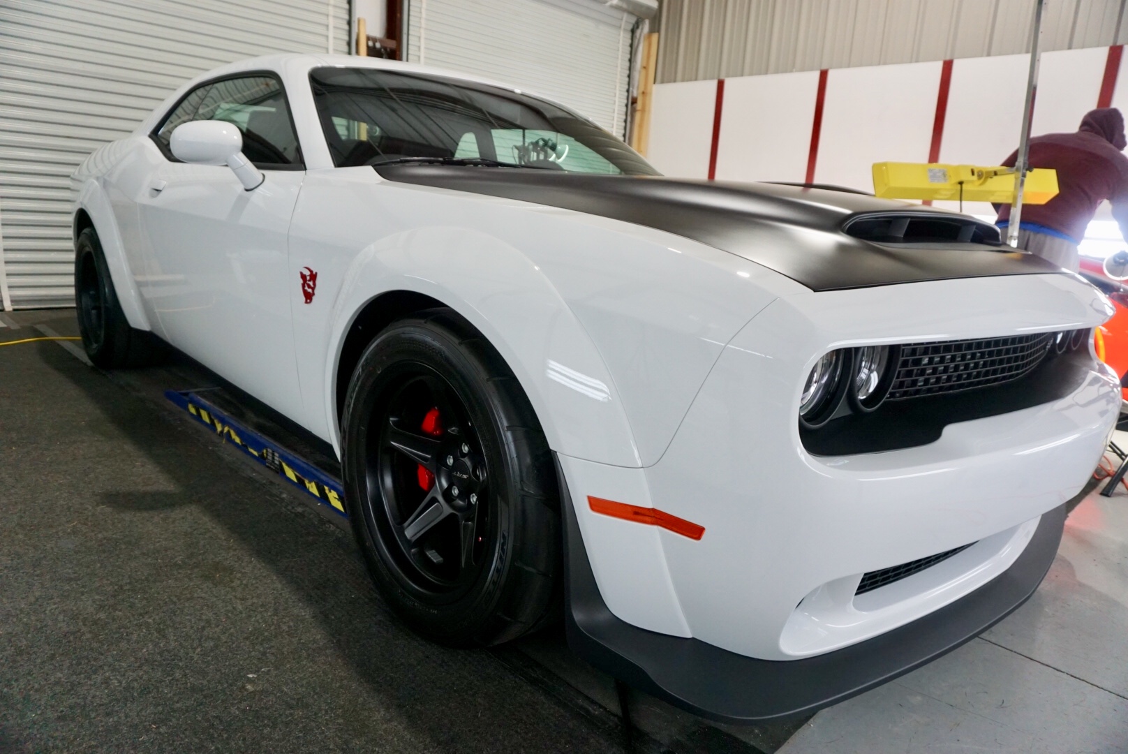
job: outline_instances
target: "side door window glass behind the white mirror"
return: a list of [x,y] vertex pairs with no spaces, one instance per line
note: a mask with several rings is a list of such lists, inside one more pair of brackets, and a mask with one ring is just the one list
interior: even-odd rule
[[173,111],[155,134],[157,140],[167,148],[173,130],[187,121],[236,125],[243,132],[243,154],[258,168],[302,167],[285,94],[273,77],[248,76],[203,85]]

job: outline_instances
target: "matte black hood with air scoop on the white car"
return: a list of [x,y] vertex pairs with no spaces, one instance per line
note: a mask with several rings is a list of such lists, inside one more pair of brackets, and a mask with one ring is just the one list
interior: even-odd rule
[[[862,227],[866,216],[959,218],[976,223],[964,216],[846,191],[444,165],[384,165],[377,170],[388,181],[515,199],[666,230],[742,256],[812,290],[1059,271],[1040,257],[1006,247],[878,244],[853,237],[843,228],[852,222]],[[992,226],[979,225],[995,234]],[[830,235],[811,238],[804,229]]]

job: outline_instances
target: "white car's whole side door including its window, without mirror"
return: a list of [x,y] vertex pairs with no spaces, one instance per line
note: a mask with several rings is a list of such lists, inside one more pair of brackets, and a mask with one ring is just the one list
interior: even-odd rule
[[[173,132],[224,121],[266,179],[254,191],[226,165],[188,165]],[[277,411],[300,415],[287,273],[290,219],[306,176],[290,107],[271,71],[219,78],[185,95],[153,132],[166,158],[139,188],[143,289],[173,345]],[[296,283],[297,284],[297,283]]]

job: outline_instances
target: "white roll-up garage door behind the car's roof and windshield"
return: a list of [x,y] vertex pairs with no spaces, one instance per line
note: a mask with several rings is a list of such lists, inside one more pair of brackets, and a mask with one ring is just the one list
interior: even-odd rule
[[598,0],[409,0],[407,60],[476,73],[624,134],[635,17]]

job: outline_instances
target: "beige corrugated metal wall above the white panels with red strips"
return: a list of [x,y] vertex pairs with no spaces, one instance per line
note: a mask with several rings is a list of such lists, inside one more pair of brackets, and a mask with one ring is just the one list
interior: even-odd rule
[[[1128,42],[1126,0],[1047,0],[1042,50]],[[1028,51],[1033,0],[662,0],[658,81]]]

